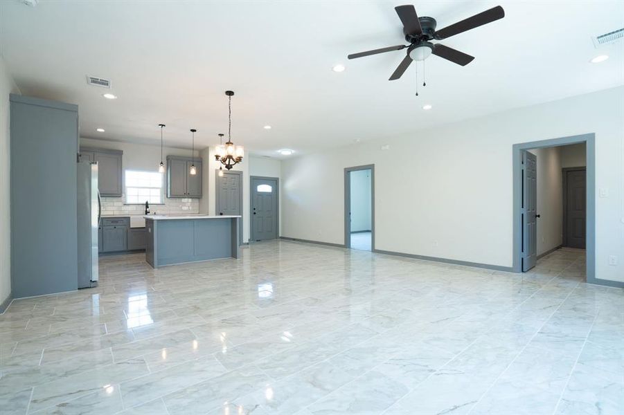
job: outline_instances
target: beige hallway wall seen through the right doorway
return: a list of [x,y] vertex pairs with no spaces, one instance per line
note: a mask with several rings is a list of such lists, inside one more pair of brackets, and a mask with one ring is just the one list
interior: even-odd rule
[[537,255],[563,242],[562,147],[529,150],[537,157]]

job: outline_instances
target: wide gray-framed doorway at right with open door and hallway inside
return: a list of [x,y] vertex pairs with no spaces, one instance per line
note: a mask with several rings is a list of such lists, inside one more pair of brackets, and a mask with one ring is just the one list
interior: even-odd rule
[[[513,270],[564,267],[595,278],[594,134],[513,146]],[[589,201],[589,203],[588,203]]]

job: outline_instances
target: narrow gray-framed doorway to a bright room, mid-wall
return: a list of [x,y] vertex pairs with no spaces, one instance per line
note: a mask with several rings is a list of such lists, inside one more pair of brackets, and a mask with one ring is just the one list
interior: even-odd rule
[[346,248],[375,250],[375,166],[344,169]]

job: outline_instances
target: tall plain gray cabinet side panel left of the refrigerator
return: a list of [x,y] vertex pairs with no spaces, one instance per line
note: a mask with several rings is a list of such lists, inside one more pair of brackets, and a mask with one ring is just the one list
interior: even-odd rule
[[5,134],[1,150],[10,151],[10,175],[3,170],[1,187],[8,189],[10,181],[12,297],[73,291],[78,288],[78,106],[14,94],[2,99],[8,114],[2,128],[10,128],[10,145]]

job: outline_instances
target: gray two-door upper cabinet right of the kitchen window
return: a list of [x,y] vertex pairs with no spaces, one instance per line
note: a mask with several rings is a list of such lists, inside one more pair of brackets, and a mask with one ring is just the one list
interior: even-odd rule
[[[190,174],[195,164],[197,174]],[[167,156],[167,197],[202,197],[202,159]]]

